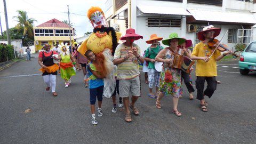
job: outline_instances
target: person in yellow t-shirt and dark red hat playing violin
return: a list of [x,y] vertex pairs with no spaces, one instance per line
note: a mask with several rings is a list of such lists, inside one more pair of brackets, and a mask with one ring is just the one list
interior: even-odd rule
[[[197,97],[200,100],[201,110],[207,112],[208,103],[204,100],[204,96],[209,98],[217,88],[216,76],[217,76],[217,61],[221,60],[227,54],[232,53],[226,51],[221,54],[219,50],[215,50],[218,46],[218,42],[213,44],[213,47],[208,45],[210,39],[217,37],[220,34],[220,28],[214,28],[212,25],[204,27],[202,31],[197,34],[198,39],[201,41],[198,43],[191,54],[192,60],[197,60],[196,63],[196,89]],[[204,91],[204,83],[207,82],[207,88]]]

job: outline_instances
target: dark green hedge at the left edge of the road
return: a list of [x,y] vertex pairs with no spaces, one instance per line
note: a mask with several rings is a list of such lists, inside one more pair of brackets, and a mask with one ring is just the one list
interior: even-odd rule
[[0,44],[0,62],[14,59],[14,50],[12,45]]

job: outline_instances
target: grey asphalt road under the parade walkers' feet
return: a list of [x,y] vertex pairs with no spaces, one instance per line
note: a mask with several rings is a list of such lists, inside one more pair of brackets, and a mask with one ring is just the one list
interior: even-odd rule
[[[256,73],[241,76],[236,67],[237,61],[218,66],[221,84],[207,100],[208,113],[188,99],[187,91],[179,101],[182,117],[171,113],[170,96],[156,109],[142,81],[140,116],[126,123],[124,111],[111,113],[111,100],[105,98],[104,115],[93,126],[82,71],[68,88],[58,75],[59,96],[52,97],[36,58],[21,61],[0,72],[0,143],[256,143]],[[23,113],[26,109],[31,112]]]

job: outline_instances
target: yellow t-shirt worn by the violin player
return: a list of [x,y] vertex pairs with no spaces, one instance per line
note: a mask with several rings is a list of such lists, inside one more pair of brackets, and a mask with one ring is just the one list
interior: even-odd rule
[[[206,57],[211,55],[214,49],[209,49],[208,45],[203,42],[196,44],[192,52],[192,56]],[[216,59],[221,55],[219,50],[216,50],[210,60],[197,60],[196,62],[196,76],[217,76],[217,61]]]

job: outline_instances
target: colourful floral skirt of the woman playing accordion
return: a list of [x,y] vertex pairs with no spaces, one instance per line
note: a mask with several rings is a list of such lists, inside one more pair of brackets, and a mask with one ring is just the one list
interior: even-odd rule
[[181,88],[181,70],[173,68],[165,68],[161,73],[159,91],[171,94],[175,98],[179,98],[182,94]]

